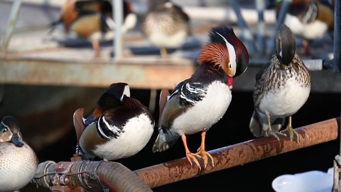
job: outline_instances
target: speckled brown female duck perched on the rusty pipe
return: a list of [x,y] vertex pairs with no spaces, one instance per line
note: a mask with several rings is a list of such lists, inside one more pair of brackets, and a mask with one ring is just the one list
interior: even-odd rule
[[[296,40],[289,27],[283,24],[276,36],[277,53],[256,75],[253,93],[254,109],[250,130],[256,137],[288,134],[299,142],[292,128],[291,116],[307,101],[311,76],[296,51]],[[284,118],[289,117],[285,130],[279,132]]]

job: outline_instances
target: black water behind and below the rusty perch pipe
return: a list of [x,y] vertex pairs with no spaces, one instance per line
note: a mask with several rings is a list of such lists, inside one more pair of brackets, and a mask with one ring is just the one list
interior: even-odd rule
[[[142,101],[146,106],[149,103],[149,94],[150,92],[147,90],[132,90],[131,92],[133,97]],[[253,139],[248,129],[250,116],[253,111],[252,93],[233,92],[232,95],[232,102],[224,117],[207,132],[207,150]],[[307,103],[293,116],[293,126],[301,127],[340,116],[340,96],[340,94],[311,93]],[[157,110],[156,114],[158,113]],[[131,170],[137,170],[185,156],[181,141],[178,141],[174,147],[163,153],[153,154],[151,149],[156,136],[157,133],[155,132],[151,141],[140,153],[118,162]],[[200,135],[188,136],[187,142],[189,149],[194,152],[200,145]],[[49,146],[46,150],[39,152],[37,155],[40,158],[40,162],[46,160],[55,162],[69,161],[74,152],[75,143],[75,133],[72,130],[63,139]],[[333,158],[339,152],[339,143],[339,141],[332,141],[320,144],[243,166],[158,187],[153,190],[154,192],[273,191],[271,183],[277,176],[311,170],[326,172],[328,168],[333,166]],[[22,192],[33,190],[34,186],[30,184]]]

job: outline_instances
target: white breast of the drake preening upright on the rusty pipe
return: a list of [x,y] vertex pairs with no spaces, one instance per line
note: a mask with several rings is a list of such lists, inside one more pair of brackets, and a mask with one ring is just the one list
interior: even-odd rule
[[174,119],[171,130],[180,135],[190,135],[209,129],[225,114],[231,99],[231,91],[227,84],[212,82],[201,101]]

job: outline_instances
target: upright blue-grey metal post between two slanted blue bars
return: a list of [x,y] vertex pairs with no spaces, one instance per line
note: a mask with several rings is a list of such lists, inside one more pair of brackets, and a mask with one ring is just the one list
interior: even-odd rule
[[264,9],[265,0],[256,0],[256,9],[258,12],[258,35],[257,44],[258,52],[264,55],[265,53],[265,22],[264,22]]

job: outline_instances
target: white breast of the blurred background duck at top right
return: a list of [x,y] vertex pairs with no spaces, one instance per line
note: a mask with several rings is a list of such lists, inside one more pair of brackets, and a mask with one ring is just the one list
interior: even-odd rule
[[286,15],[284,23],[288,25],[295,35],[307,39],[322,38],[328,30],[328,25],[322,21],[315,20],[311,23],[304,24],[299,18],[291,14]]

